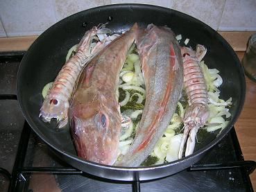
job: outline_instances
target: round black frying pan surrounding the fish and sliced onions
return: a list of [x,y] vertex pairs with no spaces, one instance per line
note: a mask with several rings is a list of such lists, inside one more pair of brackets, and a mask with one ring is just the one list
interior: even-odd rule
[[[128,30],[135,22],[139,26],[151,23],[157,26],[167,25],[176,35],[188,37],[189,46],[203,44],[207,47],[205,63],[210,68],[218,69],[223,77],[221,97],[227,100],[232,96],[233,102],[230,123],[219,137],[216,138],[217,132],[199,132],[200,141],[196,143],[194,154],[169,164],[138,168],[105,166],[84,161],[76,155],[69,129],[57,130],[55,123],[44,123],[38,118],[42,105],[42,88],[56,78],[65,62],[68,49],[79,42],[85,30],[106,22],[109,22],[107,27],[116,33]],[[61,159],[92,175],[127,181],[164,177],[198,162],[234,125],[244,105],[245,89],[244,71],[237,55],[215,30],[181,12],[138,4],[93,8],[59,21],[35,40],[24,55],[17,75],[17,96],[26,120],[41,139],[56,150]]]

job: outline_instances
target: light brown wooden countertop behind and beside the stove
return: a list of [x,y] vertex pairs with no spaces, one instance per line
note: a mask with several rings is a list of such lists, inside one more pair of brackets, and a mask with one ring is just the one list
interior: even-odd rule
[[[248,37],[255,32],[219,32],[227,40],[241,60],[246,50]],[[0,52],[24,51],[34,42],[37,36],[2,37]],[[234,128],[245,160],[256,161],[256,82],[246,77],[246,101],[244,109]],[[256,191],[256,171],[250,175],[253,189]]]

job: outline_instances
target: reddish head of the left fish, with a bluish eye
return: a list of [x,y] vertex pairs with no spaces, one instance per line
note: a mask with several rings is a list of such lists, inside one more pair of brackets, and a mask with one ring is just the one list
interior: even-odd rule
[[117,159],[121,116],[111,102],[94,99],[71,110],[71,133],[78,156],[91,162],[112,165]]

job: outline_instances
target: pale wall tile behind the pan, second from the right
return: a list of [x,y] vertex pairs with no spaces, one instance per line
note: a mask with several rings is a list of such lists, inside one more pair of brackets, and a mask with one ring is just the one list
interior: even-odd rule
[[219,27],[225,0],[173,0],[171,8],[191,15],[215,30]]

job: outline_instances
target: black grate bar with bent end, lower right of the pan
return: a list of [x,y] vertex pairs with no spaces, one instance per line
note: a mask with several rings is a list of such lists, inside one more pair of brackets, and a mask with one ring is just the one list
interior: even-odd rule
[[256,162],[254,161],[234,161],[234,162],[223,162],[219,164],[196,164],[189,168],[189,171],[210,171],[228,168],[244,168],[246,173],[250,175],[256,168]]

